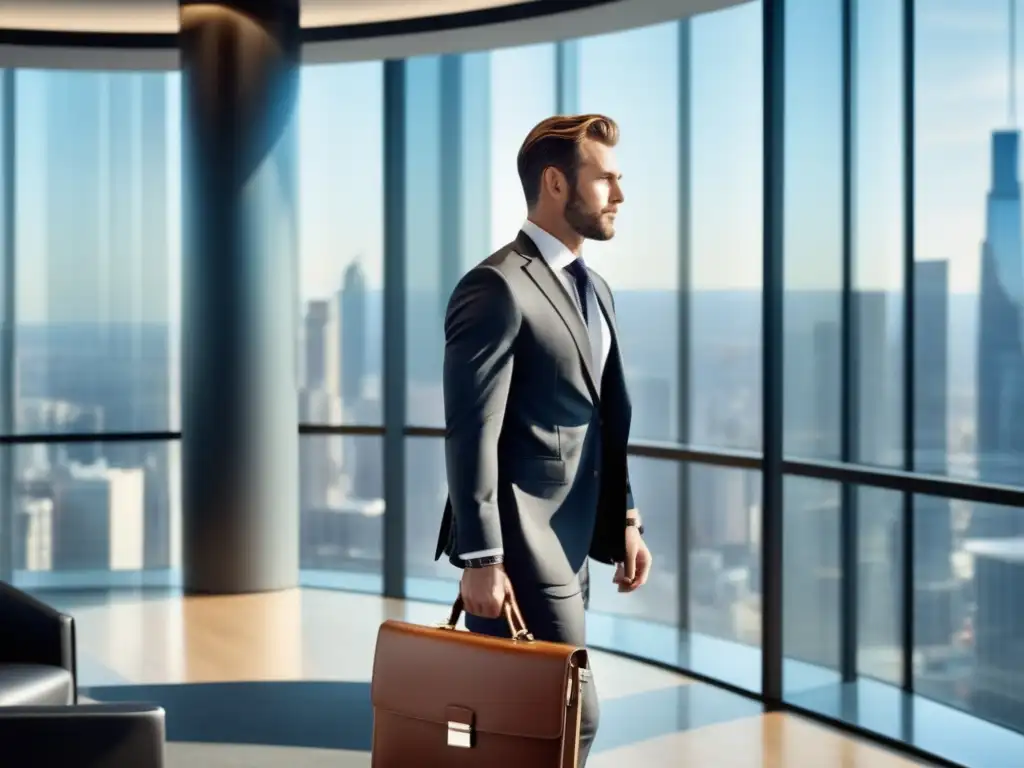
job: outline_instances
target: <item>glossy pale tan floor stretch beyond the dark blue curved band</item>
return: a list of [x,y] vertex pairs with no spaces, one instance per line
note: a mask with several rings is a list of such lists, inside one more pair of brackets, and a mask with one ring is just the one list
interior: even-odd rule
[[[116,601],[74,610],[81,652],[129,683],[369,680],[385,618],[437,624],[442,605],[344,592]],[[240,649],[245,649],[242,652]],[[627,696],[688,678],[594,652],[602,695]],[[87,678],[85,686],[98,683]]]

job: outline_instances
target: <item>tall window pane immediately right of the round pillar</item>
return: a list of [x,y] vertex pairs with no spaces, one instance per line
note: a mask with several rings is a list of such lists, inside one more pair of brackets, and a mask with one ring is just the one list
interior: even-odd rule
[[[380,591],[383,65],[299,76],[299,558],[306,584]],[[374,429],[377,428],[377,429]]]

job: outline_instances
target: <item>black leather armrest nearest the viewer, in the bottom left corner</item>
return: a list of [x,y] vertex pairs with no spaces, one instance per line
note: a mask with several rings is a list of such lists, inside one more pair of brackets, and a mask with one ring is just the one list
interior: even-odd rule
[[164,768],[164,710],[153,705],[0,707],[4,764]]

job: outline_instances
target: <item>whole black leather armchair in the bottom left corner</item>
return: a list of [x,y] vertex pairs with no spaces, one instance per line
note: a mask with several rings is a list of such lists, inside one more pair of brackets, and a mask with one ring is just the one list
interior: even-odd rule
[[163,709],[78,706],[75,653],[75,620],[0,582],[0,765],[163,768]]

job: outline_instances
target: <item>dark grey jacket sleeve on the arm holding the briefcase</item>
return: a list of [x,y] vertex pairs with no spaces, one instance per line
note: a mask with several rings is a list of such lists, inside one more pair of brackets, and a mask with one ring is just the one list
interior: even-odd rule
[[505,278],[489,266],[456,287],[444,318],[444,460],[455,517],[455,554],[503,554],[498,514],[498,439],[512,382],[522,314]]

